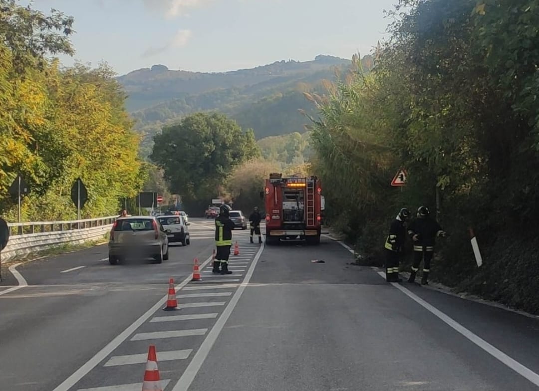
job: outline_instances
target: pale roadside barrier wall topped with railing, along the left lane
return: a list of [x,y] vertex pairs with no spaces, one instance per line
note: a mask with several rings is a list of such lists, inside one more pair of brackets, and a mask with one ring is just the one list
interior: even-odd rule
[[77,245],[105,239],[117,216],[73,221],[9,223],[10,238],[2,250],[2,261],[37,253],[61,245]]

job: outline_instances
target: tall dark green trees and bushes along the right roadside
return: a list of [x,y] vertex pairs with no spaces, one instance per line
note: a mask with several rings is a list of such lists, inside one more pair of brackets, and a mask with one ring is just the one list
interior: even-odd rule
[[[438,200],[452,235],[434,276],[529,311],[539,308],[539,285],[526,277],[539,269],[521,250],[539,213],[537,10],[537,0],[400,0],[373,72],[356,56],[325,96],[307,96],[320,113],[313,164],[350,239],[380,255],[399,207],[436,214]],[[402,191],[389,186],[400,167]]]

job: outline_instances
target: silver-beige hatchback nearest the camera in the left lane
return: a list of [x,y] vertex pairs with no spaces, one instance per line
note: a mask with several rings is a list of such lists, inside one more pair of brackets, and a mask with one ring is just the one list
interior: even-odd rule
[[169,259],[167,232],[153,216],[122,217],[110,230],[109,263],[115,265],[135,257],[151,257],[156,263]]

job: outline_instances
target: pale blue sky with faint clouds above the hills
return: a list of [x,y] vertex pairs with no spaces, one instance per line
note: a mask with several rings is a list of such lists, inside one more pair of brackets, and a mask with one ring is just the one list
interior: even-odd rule
[[[369,54],[397,0],[33,0],[75,19],[73,58],[118,74],[162,64],[224,72],[318,54]],[[22,5],[29,1],[21,0]]]

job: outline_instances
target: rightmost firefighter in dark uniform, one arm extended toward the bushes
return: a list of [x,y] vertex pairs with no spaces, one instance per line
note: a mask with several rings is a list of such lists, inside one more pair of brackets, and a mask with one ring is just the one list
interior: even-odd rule
[[429,273],[432,257],[434,256],[434,245],[437,236],[445,236],[445,231],[441,229],[438,222],[430,217],[431,212],[426,206],[420,206],[417,210],[417,219],[412,221],[408,227],[408,234],[413,242],[413,263],[412,273],[408,282],[416,281],[416,274],[419,271],[419,264],[423,259],[423,277],[421,284],[429,284]]

